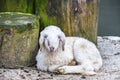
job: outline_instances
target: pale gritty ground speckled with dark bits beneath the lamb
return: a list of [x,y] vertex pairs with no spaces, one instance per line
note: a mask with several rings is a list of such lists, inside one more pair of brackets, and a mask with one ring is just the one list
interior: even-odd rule
[[95,76],[58,75],[35,67],[0,69],[0,80],[120,80],[120,37],[98,37],[103,66]]

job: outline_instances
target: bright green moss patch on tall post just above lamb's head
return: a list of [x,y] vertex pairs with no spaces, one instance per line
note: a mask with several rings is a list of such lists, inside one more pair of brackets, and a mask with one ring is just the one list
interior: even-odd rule
[[57,25],[56,16],[49,16],[47,8],[48,0],[36,0],[36,14],[40,17],[40,25],[42,29],[48,25]]

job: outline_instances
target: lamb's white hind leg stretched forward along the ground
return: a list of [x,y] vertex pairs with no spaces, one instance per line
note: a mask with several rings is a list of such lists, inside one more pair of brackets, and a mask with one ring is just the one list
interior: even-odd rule
[[62,66],[56,69],[56,72],[62,74],[68,73],[80,73],[81,75],[95,75],[96,73],[92,69],[85,69],[81,65],[76,66]]

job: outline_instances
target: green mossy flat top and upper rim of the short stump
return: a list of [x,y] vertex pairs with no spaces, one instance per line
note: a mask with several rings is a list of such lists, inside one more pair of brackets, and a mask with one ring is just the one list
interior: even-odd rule
[[16,29],[17,32],[23,32],[29,29],[38,28],[38,26],[33,26],[34,22],[36,24],[39,23],[37,17],[31,14],[19,13],[19,12],[0,13],[0,25],[4,25],[2,27],[5,27],[5,28],[12,27]]

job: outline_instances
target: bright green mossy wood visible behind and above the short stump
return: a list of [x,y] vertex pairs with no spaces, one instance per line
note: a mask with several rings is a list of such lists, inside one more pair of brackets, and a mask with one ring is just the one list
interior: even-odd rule
[[34,13],[35,0],[0,0],[0,12]]

